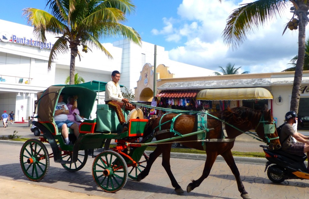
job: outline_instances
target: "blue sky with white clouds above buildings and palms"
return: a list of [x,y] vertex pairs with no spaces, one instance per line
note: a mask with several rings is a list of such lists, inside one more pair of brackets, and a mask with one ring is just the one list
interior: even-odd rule
[[[45,9],[45,0],[15,0],[2,4],[0,19],[27,25],[22,9]],[[281,16],[254,30],[237,49],[224,43],[222,31],[226,19],[239,5],[249,0],[133,0],[135,13],[125,25],[133,27],[142,41],[165,48],[169,58],[219,71],[228,63],[241,67],[240,72],[271,73],[290,68],[298,52],[298,31],[284,27],[292,18],[290,7]],[[1,29],[1,27],[0,27]],[[108,43],[122,38],[100,40]],[[153,64],[153,63],[151,63]],[[161,64],[161,63],[160,63]],[[162,63],[164,64],[164,63]]]

